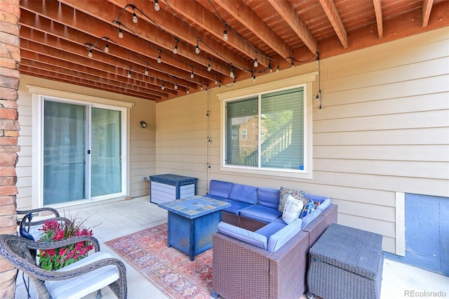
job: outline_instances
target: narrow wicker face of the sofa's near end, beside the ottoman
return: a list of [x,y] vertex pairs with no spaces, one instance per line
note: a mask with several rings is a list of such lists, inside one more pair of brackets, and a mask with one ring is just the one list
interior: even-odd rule
[[309,234],[298,232],[269,258],[269,298],[300,298],[306,290]]

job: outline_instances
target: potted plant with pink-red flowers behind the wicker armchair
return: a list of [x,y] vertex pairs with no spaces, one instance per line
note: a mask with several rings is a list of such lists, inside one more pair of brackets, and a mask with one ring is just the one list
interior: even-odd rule
[[[79,236],[92,236],[92,230],[83,227],[83,221],[71,220],[70,222],[58,222],[57,220],[46,220],[42,228],[40,242],[55,242]],[[62,267],[75,263],[87,256],[88,251],[93,249],[93,244],[88,241],[79,241],[64,247],[41,250],[39,256],[39,267],[45,270],[58,270]]]

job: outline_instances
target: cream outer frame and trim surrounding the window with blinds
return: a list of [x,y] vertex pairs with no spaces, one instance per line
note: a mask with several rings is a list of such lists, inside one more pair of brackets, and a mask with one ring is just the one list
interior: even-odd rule
[[[222,142],[220,142],[220,171],[229,171],[234,173],[248,173],[257,175],[274,175],[290,178],[312,178],[312,83],[316,81],[318,72],[303,74],[300,76],[290,77],[279,81],[271,81],[269,83],[241,88],[236,91],[228,91],[217,94],[221,105],[221,124],[220,133]],[[226,104],[231,100],[239,100],[248,98],[261,93],[270,93],[280,91],[282,89],[290,89],[302,86],[304,88],[304,169],[276,169],[276,168],[250,168],[247,166],[236,166],[226,164]]]

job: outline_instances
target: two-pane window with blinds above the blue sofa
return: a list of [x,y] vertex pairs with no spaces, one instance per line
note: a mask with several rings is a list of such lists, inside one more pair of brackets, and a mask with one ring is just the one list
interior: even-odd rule
[[227,167],[304,172],[304,86],[227,100]]

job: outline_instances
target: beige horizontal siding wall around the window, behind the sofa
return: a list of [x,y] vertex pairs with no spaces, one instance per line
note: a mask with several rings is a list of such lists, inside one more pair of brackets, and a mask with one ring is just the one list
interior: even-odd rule
[[314,72],[314,62],[158,103],[156,173],[196,177],[199,194],[218,179],[327,195],[340,224],[380,233],[384,250],[400,253],[403,223],[396,219],[404,211],[396,210],[396,192],[449,197],[448,36],[445,27],[321,60],[323,107],[308,103],[311,180],[220,171],[217,93]]

